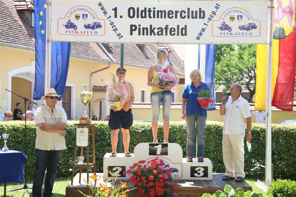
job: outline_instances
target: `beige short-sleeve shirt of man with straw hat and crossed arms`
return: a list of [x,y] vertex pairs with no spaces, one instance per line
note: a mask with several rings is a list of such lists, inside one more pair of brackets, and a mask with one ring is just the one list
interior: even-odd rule
[[63,150],[66,149],[65,137],[58,132],[42,131],[38,124],[48,123],[56,124],[67,121],[67,114],[62,107],[55,106],[53,113],[47,105],[42,105],[36,109],[35,126],[36,126],[36,143],[35,149],[41,150]]

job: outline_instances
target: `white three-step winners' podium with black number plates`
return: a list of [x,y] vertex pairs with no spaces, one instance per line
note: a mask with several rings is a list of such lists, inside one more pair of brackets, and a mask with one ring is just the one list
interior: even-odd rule
[[[192,180],[213,180],[213,163],[210,159],[204,158],[204,162],[186,162],[183,158],[182,148],[176,143],[140,143],[137,144],[132,157],[125,157],[123,153],[117,153],[117,157],[109,157],[111,153],[104,156],[104,177],[111,177],[118,174],[118,180],[128,179],[129,175],[123,175],[134,163],[139,160],[151,160],[155,157],[161,158],[164,164],[169,164],[174,179]],[[113,174],[108,173],[110,170]]]

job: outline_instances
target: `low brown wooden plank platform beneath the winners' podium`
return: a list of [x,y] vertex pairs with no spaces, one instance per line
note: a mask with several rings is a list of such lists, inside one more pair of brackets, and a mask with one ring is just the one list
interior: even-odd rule
[[[97,175],[101,176],[97,184],[99,183],[103,184],[104,183],[102,179],[103,173],[97,173]],[[252,191],[252,187],[246,182],[236,183],[234,180],[223,181],[222,176],[224,175],[225,175],[224,173],[213,173],[212,181],[210,180],[178,180],[178,185],[180,186],[180,189],[177,191],[178,196],[197,197],[197,196],[202,196],[202,194],[204,193],[213,194],[217,190],[223,191],[224,186],[226,184],[231,185],[234,189],[242,188],[244,191],[248,191],[248,190]],[[86,173],[81,174],[81,183],[78,183],[79,174],[77,174],[74,177],[73,186],[71,185],[71,183],[69,183],[66,187],[66,197],[83,197],[83,195],[78,190],[80,190],[85,194],[89,194],[89,188],[87,187],[83,179],[86,180]],[[91,183],[91,180],[90,180],[90,183]],[[126,183],[129,189],[134,188],[133,184],[130,183],[129,181],[126,181]],[[115,186],[117,185],[120,185],[118,181],[115,183]],[[107,186],[110,187],[111,183],[107,183]],[[141,196],[141,195],[138,194],[137,189],[134,189],[128,193],[128,196],[133,197],[133,196]]]

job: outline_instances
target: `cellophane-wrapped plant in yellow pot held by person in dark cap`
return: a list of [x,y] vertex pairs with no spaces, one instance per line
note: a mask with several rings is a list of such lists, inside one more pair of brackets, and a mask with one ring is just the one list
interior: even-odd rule
[[115,106],[117,110],[120,110],[128,97],[128,90],[122,82],[116,81],[115,74],[111,74],[112,83],[107,86],[106,102],[110,106]]

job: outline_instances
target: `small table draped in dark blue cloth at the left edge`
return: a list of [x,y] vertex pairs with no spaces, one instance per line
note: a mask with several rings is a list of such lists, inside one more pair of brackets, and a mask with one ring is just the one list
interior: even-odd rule
[[0,183],[4,183],[4,196],[6,196],[6,183],[24,182],[23,166],[27,157],[18,151],[0,152]]

